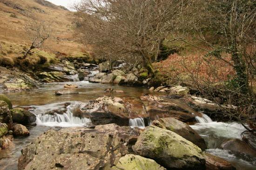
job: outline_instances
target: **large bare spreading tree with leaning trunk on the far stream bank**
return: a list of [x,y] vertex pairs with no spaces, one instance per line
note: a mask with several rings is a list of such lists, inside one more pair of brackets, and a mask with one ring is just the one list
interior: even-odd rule
[[185,5],[180,0],[82,0],[75,8],[81,40],[93,46],[94,54],[141,61],[155,76],[151,59]]

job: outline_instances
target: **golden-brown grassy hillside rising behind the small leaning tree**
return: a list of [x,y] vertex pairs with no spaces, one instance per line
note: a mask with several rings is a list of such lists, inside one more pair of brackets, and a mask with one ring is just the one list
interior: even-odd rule
[[45,0],[0,0],[0,57],[12,58],[30,41],[24,30],[25,21],[33,16],[52,23],[52,35],[40,54],[55,58],[55,54],[68,57],[88,55],[87,50],[75,42],[73,13],[64,6],[56,6]]

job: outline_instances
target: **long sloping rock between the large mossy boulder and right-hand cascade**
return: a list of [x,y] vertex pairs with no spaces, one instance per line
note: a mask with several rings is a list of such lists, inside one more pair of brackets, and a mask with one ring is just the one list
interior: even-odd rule
[[175,132],[193,144],[197,145],[202,150],[207,149],[204,139],[202,139],[202,137],[190,126],[180,120],[176,120],[175,118],[162,118],[159,120],[154,120],[152,125]]

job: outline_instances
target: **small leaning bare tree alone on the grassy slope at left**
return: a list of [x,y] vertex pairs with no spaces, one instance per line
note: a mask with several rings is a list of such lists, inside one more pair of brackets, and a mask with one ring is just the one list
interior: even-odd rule
[[26,51],[20,52],[20,54],[23,54],[23,56],[19,57],[20,59],[25,59],[27,55],[34,53],[31,50],[43,47],[44,42],[51,34],[51,23],[45,20],[38,20],[30,17],[27,19],[24,27],[27,36],[32,43]]

